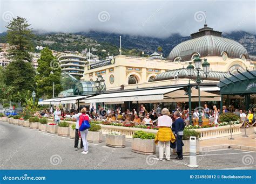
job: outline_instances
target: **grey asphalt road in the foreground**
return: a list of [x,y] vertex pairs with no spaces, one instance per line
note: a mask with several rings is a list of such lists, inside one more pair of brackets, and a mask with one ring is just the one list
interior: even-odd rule
[[[89,143],[89,154],[73,149],[74,140],[0,122],[0,169],[189,169],[189,157],[159,161],[156,155]],[[197,169],[255,169],[255,152],[220,150],[200,153]],[[242,158],[244,157],[244,163]]]

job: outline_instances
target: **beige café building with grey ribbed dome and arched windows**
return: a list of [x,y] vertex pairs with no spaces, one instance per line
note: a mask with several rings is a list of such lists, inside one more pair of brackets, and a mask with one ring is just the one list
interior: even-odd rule
[[[102,75],[106,90],[185,84],[188,82],[186,70],[180,72],[180,69],[193,62],[196,55],[201,59],[206,58],[210,63],[212,77],[205,82],[219,81],[223,74],[218,72],[235,74],[237,69],[241,72],[246,69],[254,70],[256,65],[256,57],[248,55],[244,46],[237,41],[221,37],[221,32],[205,25],[199,32],[191,34],[190,40],[174,47],[167,59],[156,52],[149,58],[118,55],[111,60],[85,67],[82,80],[96,81],[97,76]],[[168,72],[169,70],[173,71]],[[154,81],[160,74],[161,79],[158,77],[158,80]]]

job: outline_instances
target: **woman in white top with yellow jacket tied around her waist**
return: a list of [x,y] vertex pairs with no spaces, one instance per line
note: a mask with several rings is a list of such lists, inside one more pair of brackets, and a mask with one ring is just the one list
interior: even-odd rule
[[159,160],[164,159],[164,148],[165,148],[166,159],[169,161],[171,157],[170,141],[174,143],[176,138],[174,137],[171,130],[172,118],[167,115],[168,112],[169,110],[166,108],[164,108],[161,111],[161,114],[163,114],[163,116],[159,116],[158,118],[159,129],[158,129],[156,138],[154,139],[154,142],[156,144],[159,143]]

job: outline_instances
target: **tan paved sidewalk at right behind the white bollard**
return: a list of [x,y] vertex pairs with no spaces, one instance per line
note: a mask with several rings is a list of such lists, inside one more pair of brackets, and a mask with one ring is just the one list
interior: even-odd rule
[[233,136],[233,140],[230,140],[230,136],[201,140],[200,151],[219,150],[224,148],[235,148],[240,150],[256,151],[256,134],[253,127],[246,129],[246,135],[243,137],[244,129],[241,129],[242,134]]

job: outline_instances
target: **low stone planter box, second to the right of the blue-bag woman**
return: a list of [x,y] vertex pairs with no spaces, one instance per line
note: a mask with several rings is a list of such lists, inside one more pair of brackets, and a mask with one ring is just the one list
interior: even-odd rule
[[110,147],[125,147],[125,135],[106,134],[106,146]]

